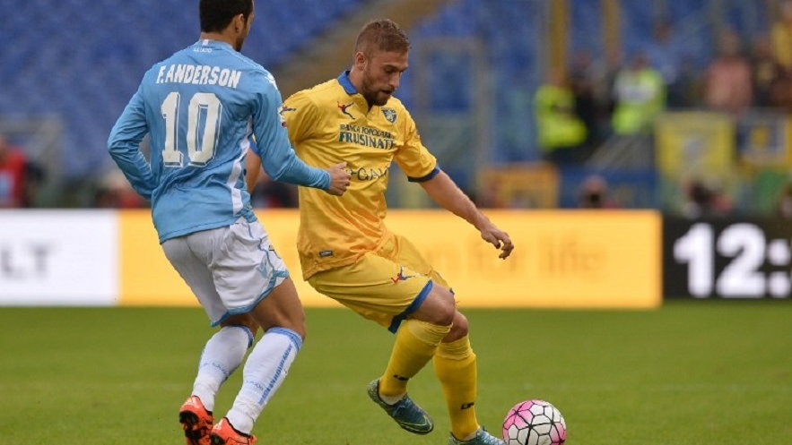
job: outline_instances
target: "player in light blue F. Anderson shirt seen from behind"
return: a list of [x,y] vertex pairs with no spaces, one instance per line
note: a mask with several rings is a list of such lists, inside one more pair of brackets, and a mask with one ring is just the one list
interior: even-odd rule
[[[154,64],[118,118],[109,152],[152,218],[171,264],[220,329],[206,343],[192,394],[179,411],[188,445],[253,444],[253,424],[283,382],[305,337],[289,274],[257,222],[245,185],[251,147],[275,180],[341,195],[345,164],[309,167],[292,150],[274,79],[239,54],[253,0],[201,0],[201,38]],[[140,142],[150,134],[150,160]],[[213,421],[222,382],[242,363],[231,410]]]

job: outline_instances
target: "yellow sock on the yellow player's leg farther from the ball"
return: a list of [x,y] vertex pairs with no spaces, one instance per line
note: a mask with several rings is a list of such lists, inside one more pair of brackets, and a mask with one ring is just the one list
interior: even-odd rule
[[[383,398],[401,396],[407,381],[426,365],[451,326],[438,326],[424,321],[407,320],[396,332],[396,344],[390,361],[379,378],[379,395]],[[387,400],[386,400],[387,402]]]

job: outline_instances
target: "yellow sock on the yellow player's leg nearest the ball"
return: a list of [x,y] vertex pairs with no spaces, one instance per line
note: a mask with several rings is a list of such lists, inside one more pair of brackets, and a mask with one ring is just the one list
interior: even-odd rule
[[476,367],[470,339],[441,343],[434,355],[434,372],[446,396],[451,432],[460,441],[469,439],[480,426],[475,418]]

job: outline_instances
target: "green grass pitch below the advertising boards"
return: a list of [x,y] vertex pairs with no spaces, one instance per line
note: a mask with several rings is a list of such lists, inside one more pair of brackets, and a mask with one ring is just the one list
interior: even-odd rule
[[[480,421],[544,398],[570,445],[730,445],[792,438],[792,302],[672,302],[657,311],[469,310]],[[307,311],[309,338],[259,418],[263,444],[445,444],[431,365],[413,436],[371,404],[392,336],[343,309]],[[177,410],[211,334],[200,309],[0,308],[0,443],[180,444]],[[240,372],[223,387],[222,415]]]

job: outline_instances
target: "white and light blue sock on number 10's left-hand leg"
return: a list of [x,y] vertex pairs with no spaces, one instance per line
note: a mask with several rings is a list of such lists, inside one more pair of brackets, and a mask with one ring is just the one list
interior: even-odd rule
[[207,410],[214,409],[217,391],[242,364],[252,344],[253,334],[245,326],[223,327],[206,342],[198,364],[198,375],[193,383],[193,395],[201,398]]

